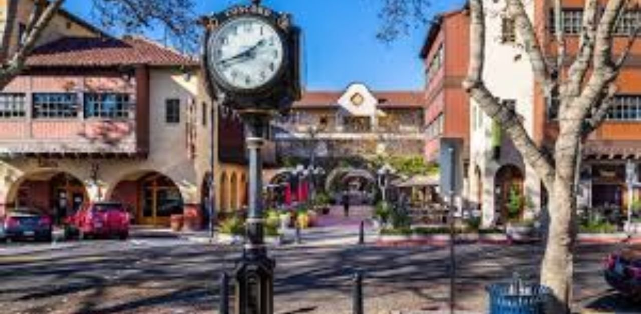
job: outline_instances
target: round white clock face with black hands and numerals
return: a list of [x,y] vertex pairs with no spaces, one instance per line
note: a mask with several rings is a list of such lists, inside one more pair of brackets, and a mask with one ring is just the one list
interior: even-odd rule
[[241,17],[224,24],[212,36],[210,66],[238,90],[256,90],[278,75],[283,65],[283,42],[271,24]]

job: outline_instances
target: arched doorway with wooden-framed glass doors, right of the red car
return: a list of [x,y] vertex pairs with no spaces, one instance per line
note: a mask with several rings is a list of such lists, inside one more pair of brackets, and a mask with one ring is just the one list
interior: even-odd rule
[[147,171],[130,175],[119,182],[112,200],[129,208],[135,224],[169,226],[172,215],[183,214],[183,198],[171,178]]

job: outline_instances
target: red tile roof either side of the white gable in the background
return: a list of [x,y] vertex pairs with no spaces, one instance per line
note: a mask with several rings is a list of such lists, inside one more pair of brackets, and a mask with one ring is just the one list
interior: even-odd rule
[[[303,99],[294,104],[294,108],[337,107],[338,99],[343,95],[343,91],[308,91],[303,94]],[[413,108],[424,104],[423,95],[419,91],[372,91],[372,95],[378,99],[379,107]]]

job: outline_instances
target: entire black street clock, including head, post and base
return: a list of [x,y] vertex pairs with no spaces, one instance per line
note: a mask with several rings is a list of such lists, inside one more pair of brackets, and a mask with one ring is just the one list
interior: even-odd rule
[[[203,18],[206,31],[201,61],[208,93],[217,96],[214,100],[221,106],[240,113],[246,127],[246,146],[249,153],[249,212],[246,222],[247,241],[234,274],[235,313],[273,314],[276,262],[267,255],[265,246],[262,150],[271,118],[275,114],[288,113],[292,104],[302,97],[301,29],[293,24],[290,15],[265,8],[260,5],[260,0],[251,2],[251,6],[234,6],[225,12]],[[245,37],[242,38],[244,41],[254,42],[254,46],[249,49],[244,47],[244,44],[239,45],[244,41],[229,38],[221,40],[228,36],[231,27],[241,24],[260,24],[266,32],[273,33],[270,35],[272,41],[278,43],[272,43],[272,48],[264,47],[267,34],[258,35],[257,32],[251,31],[242,34]],[[226,49],[229,53],[216,53],[222,51],[222,45],[232,47]],[[257,49],[272,49],[277,52],[273,60],[269,60],[272,62],[271,67],[260,68],[269,63],[256,59]],[[224,72],[220,68],[221,65],[240,63],[245,64],[242,68],[249,67],[253,71],[245,69],[245,76],[241,80],[236,79],[238,75],[231,75],[233,79],[229,79],[229,75],[221,75]],[[270,72],[272,77],[267,77],[265,74]],[[262,76],[258,73],[262,73]]]

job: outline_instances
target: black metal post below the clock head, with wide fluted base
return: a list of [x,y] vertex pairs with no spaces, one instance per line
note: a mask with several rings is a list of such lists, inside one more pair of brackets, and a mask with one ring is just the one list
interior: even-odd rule
[[275,262],[267,256],[263,230],[262,159],[267,116],[247,114],[249,150],[249,215],[242,260],[236,269],[236,314],[274,313]]

